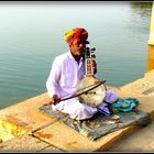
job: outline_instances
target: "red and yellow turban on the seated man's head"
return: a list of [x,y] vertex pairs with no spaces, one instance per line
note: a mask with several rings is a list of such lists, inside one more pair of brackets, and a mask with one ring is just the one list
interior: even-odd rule
[[88,32],[82,28],[76,28],[67,31],[64,37],[68,44],[73,43],[75,40],[81,40],[88,43],[88,41],[86,41],[88,38]]

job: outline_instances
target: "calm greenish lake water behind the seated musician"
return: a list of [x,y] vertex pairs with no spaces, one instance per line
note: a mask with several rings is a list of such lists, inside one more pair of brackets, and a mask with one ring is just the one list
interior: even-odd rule
[[0,2],[0,109],[46,91],[54,57],[68,50],[64,33],[76,26],[89,32],[100,79],[143,77],[151,11],[147,2]]

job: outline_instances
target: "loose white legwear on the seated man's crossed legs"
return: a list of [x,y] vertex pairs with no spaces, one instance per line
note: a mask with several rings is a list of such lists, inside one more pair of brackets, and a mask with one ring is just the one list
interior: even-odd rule
[[[118,100],[118,95],[112,90],[106,91],[106,99],[105,101],[112,103]],[[68,113],[70,118],[76,120],[85,120],[91,118],[97,111],[98,108],[101,110],[106,110],[108,112],[108,105],[102,102],[97,108],[89,107],[85,103],[80,103],[78,98],[68,99],[57,103],[56,106],[52,105],[53,112],[62,111],[64,113]]]

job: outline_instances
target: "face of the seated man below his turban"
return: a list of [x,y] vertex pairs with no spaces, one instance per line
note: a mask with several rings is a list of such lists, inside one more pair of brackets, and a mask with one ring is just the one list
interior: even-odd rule
[[74,56],[81,56],[86,48],[86,41],[75,40],[70,45],[70,52]]

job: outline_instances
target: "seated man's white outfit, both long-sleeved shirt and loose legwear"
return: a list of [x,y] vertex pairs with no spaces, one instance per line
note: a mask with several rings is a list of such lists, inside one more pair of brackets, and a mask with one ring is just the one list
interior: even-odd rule
[[[82,58],[80,58],[79,64],[77,64],[70,51],[55,57],[46,81],[48,96],[52,97],[56,94],[61,99],[63,99],[74,95],[76,92],[78,81],[84,78],[84,65]],[[118,96],[113,91],[108,90],[106,99],[113,102],[118,99]],[[100,108],[105,109],[105,103],[100,105]],[[54,112],[62,111],[68,113],[70,118],[77,120],[91,118],[98,111],[97,108],[80,103],[77,97],[62,101],[56,106],[52,105],[52,109]]]

